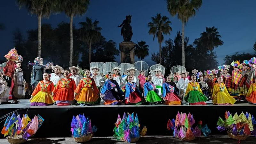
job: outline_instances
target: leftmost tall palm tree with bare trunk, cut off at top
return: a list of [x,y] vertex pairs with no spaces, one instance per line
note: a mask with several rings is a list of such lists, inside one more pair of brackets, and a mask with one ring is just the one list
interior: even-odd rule
[[37,15],[38,21],[38,47],[37,56],[41,57],[42,39],[41,39],[41,18],[49,18],[53,8],[57,5],[54,0],[17,0],[19,7],[25,6],[28,12]]

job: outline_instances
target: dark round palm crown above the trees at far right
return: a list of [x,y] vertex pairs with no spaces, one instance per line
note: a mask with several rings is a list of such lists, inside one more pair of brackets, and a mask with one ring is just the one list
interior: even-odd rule
[[214,26],[209,28],[206,27],[205,31],[200,34],[200,39],[203,46],[210,52],[212,52],[214,48],[224,43],[222,40],[220,40],[221,36],[219,34],[218,28],[215,28]]

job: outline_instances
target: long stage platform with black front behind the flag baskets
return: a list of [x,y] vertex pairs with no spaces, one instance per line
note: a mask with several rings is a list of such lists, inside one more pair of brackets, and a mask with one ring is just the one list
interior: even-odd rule
[[[47,137],[71,137],[70,123],[73,115],[83,114],[90,117],[92,125],[98,128],[94,136],[112,136],[114,123],[118,113],[122,117],[124,112],[135,112],[138,114],[141,127],[148,128],[148,135],[172,135],[172,131],[166,129],[167,121],[175,118],[178,111],[190,112],[193,114],[196,123],[203,121],[203,125],[207,124],[211,129],[211,134],[224,134],[217,130],[217,120],[219,116],[224,118],[225,111],[230,111],[233,115],[243,112],[249,112],[256,115],[256,105],[243,103],[235,103],[233,106],[212,105],[211,101],[207,101],[208,105],[194,106],[188,103],[182,105],[120,105],[105,106],[101,101],[100,105],[94,106],[30,106],[28,99],[19,100],[19,104],[0,105],[0,125],[3,128],[5,116],[16,114],[28,114],[30,118],[40,114],[44,119],[43,125],[35,134],[35,138]],[[196,124],[195,124],[196,125]],[[4,138],[1,134],[0,138]]]

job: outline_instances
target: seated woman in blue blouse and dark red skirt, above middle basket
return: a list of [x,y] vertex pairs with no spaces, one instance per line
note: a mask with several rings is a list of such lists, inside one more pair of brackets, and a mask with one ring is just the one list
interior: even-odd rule
[[128,75],[127,84],[125,84],[125,104],[140,105],[144,101],[136,83],[133,82],[133,76]]

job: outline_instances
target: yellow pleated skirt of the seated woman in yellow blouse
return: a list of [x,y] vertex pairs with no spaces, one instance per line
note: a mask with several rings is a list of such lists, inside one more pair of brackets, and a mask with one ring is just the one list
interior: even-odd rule
[[236,100],[225,92],[217,92],[216,95],[213,96],[212,102],[214,105],[233,105]]

